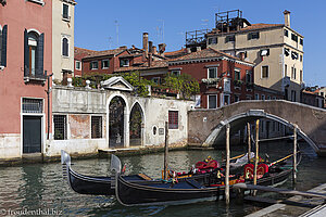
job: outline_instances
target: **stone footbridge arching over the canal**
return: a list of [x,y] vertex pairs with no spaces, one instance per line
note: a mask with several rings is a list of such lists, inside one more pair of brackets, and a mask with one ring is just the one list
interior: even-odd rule
[[225,126],[230,124],[231,133],[246,123],[267,118],[293,128],[318,155],[326,154],[326,110],[284,100],[241,101],[216,110],[188,112],[188,143],[206,146],[223,143]]

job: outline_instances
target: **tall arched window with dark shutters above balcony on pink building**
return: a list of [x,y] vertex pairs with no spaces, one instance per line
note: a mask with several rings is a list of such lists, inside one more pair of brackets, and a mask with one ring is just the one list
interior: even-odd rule
[[45,34],[24,31],[24,77],[43,78]]

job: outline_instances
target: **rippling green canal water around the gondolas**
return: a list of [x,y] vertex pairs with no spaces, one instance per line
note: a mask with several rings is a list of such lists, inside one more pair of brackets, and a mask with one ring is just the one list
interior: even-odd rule
[[[261,145],[261,155],[268,153],[275,161],[291,153],[291,143],[278,142]],[[231,151],[231,156],[243,153],[246,148]],[[298,168],[297,190],[309,190],[326,182],[326,158],[318,158],[310,146],[301,145],[302,162]],[[175,170],[188,170],[192,164],[208,156],[221,159],[223,153],[213,151],[170,152],[170,165]],[[146,173],[160,177],[163,153],[121,157],[126,174]],[[108,158],[73,159],[73,168],[85,175],[109,175]],[[284,188],[292,188],[291,180]],[[268,195],[271,196],[271,195]],[[278,195],[272,195],[277,199]],[[73,192],[62,178],[60,163],[33,164],[0,168],[0,216],[243,216],[261,207],[238,204],[231,200],[229,207],[223,201],[188,205],[124,207],[114,196],[82,195]],[[24,213],[25,212],[25,213]],[[29,212],[29,213],[28,213]],[[34,213],[33,213],[34,212]],[[38,213],[37,213],[38,212]]]

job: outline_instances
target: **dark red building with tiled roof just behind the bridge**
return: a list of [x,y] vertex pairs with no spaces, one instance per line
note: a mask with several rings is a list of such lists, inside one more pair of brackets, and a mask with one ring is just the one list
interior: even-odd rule
[[189,74],[199,81],[198,107],[216,108],[253,99],[253,63],[213,48],[170,60],[168,72]]

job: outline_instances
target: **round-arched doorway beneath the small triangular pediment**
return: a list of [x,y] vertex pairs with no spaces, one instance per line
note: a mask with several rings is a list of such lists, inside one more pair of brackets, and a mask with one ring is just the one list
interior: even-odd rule
[[114,97],[109,105],[109,146],[122,148],[125,144],[125,107],[121,97]]

